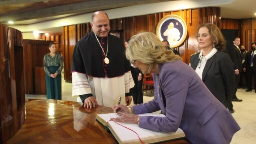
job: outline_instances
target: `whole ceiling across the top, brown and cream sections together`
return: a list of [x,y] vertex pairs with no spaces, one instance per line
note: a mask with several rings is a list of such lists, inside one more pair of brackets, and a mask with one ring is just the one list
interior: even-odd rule
[[89,22],[98,10],[119,18],[207,6],[220,7],[222,18],[256,17],[256,0],[0,0],[0,23],[12,20],[12,27],[27,32],[61,32],[63,25]]

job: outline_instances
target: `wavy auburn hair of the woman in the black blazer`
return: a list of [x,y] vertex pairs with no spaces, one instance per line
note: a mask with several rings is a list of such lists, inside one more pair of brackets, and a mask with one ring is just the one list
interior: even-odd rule
[[[202,24],[199,26],[198,31],[200,28],[206,27],[209,30],[209,34],[211,35],[212,41],[215,44],[215,48],[219,51],[223,51],[226,48],[226,41],[220,31],[220,29],[212,23]],[[197,37],[198,37],[197,31]]]

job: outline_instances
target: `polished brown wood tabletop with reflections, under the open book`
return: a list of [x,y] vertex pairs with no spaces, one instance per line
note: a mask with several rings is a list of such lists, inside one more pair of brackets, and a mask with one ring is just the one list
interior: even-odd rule
[[[97,114],[112,113],[110,107],[87,109],[81,103],[26,99],[26,119],[7,144],[117,144],[113,135],[96,120]],[[184,139],[162,144],[188,144]]]

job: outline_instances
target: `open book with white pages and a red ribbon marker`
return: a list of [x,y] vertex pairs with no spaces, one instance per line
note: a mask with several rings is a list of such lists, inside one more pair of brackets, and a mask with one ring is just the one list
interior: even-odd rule
[[[156,113],[147,113],[147,114],[140,114],[140,116],[158,116],[158,117],[165,117],[163,114],[156,114]],[[158,143],[163,141],[168,141],[172,139],[182,138],[185,137],[184,132],[179,128],[176,132],[157,132],[153,130],[148,130],[144,128],[140,128],[137,124],[126,124],[126,123],[119,123],[133,131],[117,124],[114,121],[109,121],[112,117],[118,117],[115,113],[110,114],[97,114],[96,119],[108,128],[110,132],[114,135],[116,140],[119,144],[141,144],[138,136],[144,143]]]

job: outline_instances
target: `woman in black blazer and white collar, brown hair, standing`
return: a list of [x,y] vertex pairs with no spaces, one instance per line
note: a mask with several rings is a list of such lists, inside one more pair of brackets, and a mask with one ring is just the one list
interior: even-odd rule
[[216,25],[203,24],[199,26],[197,41],[202,50],[191,56],[191,67],[227,108],[235,90],[235,70],[230,56],[221,52],[225,48],[223,35]]

